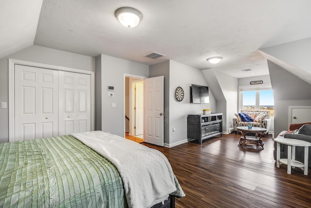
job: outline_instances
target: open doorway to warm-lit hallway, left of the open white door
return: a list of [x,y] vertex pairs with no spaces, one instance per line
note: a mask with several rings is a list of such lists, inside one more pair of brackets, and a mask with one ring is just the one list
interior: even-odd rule
[[144,79],[125,76],[125,138],[143,142]]

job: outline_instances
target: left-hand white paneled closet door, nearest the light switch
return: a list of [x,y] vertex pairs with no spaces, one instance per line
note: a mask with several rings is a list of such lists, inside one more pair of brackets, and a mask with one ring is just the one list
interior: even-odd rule
[[15,141],[58,135],[58,71],[15,65]]

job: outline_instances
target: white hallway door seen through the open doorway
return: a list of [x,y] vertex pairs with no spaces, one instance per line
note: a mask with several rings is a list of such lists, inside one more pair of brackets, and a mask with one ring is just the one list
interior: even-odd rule
[[141,135],[144,132],[144,83],[136,82],[135,87],[135,135]]

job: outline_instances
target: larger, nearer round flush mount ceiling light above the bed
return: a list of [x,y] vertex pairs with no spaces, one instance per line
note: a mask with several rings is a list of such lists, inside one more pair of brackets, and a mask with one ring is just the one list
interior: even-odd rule
[[132,7],[121,7],[115,11],[116,18],[125,27],[136,27],[142,19],[142,14]]

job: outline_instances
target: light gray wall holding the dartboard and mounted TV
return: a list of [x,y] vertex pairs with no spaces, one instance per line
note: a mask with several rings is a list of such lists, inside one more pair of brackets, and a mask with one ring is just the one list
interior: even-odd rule
[[[207,82],[201,72],[196,68],[167,60],[150,66],[150,77],[164,76],[164,143],[167,147],[173,147],[187,142],[187,115],[203,113],[203,108],[216,112],[217,105],[213,93],[209,92],[209,103],[190,103],[191,84],[207,86]],[[175,89],[183,88],[185,97],[182,101],[176,101]],[[209,88],[210,89],[210,88]],[[175,132],[173,132],[175,128]]]

